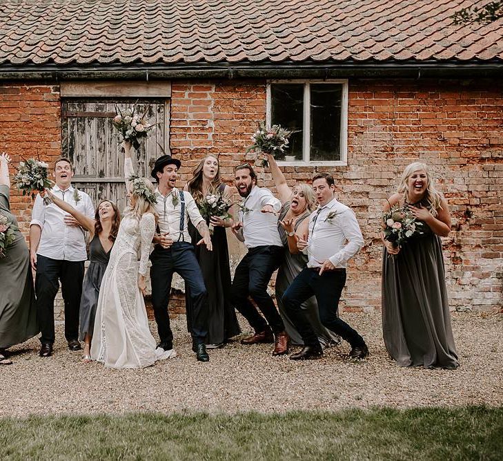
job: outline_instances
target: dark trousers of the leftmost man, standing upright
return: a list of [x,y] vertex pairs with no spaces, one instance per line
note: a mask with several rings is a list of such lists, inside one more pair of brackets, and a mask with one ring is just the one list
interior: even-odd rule
[[35,294],[42,344],[53,344],[54,300],[59,290],[65,303],[65,337],[67,341],[79,339],[79,310],[84,273],[83,261],[61,261],[37,254]]

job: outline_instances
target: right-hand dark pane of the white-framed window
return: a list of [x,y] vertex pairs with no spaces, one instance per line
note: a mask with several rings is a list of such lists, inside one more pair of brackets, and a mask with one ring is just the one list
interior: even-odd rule
[[342,85],[311,84],[310,160],[340,160]]

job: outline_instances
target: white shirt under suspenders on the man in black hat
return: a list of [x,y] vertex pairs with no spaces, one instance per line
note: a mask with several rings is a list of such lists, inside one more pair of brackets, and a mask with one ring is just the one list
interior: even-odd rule
[[[184,194],[185,198],[185,218],[184,218],[184,236],[180,238],[180,211],[181,211],[181,200],[180,195]],[[161,234],[169,234],[169,238],[172,241],[186,241],[191,243],[190,234],[188,233],[188,220],[193,223],[195,227],[199,225],[204,218],[199,213],[199,208],[195,203],[195,200],[190,192],[180,191],[176,187],[171,190],[167,196],[163,196],[159,189],[155,190],[155,195],[157,196],[157,203],[155,204],[155,209],[157,214],[159,214],[159,230]],[[177,196],[177,206],[173,206],[173,196]]]

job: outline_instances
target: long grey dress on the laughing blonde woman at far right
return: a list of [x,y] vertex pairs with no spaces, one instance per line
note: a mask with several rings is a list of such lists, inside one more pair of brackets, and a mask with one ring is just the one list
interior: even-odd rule
[[382,258],[382,332],[400,366],[457,368],[440,237],[423,235]]

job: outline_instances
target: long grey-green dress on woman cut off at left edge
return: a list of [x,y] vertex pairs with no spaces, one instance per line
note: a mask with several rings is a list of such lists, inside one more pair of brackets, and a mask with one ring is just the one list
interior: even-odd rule
[[[17,226],[6,185],[0,186],[0,213]],[[23,343],[40,332],[30,252],[19,230],[6,252],[7,257],[0,259],[0,349]]]

